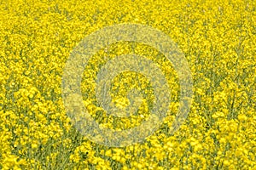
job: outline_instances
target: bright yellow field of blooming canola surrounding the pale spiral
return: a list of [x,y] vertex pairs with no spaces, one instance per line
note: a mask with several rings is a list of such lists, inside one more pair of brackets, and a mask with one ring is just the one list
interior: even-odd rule
[[[3,0],[0,3],[0,169],[255,169],[256,1],[253,0]],[[170,86],[166,119],[143,143],[112,148],[73,127],[61,77],[78,43],[105,26],[137,23],[165,32],[192,72],[193,104],[170,134],[180,90],[172,63],[155,48],[118,42],[91,56],[81,83],[84,106],[101,127],[124,130],[148,119],[154,90],[132,71],[115,77],[108,115],[97,103],[96,75],[109,59],[139,54],[159,65]],[[129,65],[129,63],[127,63]]]

